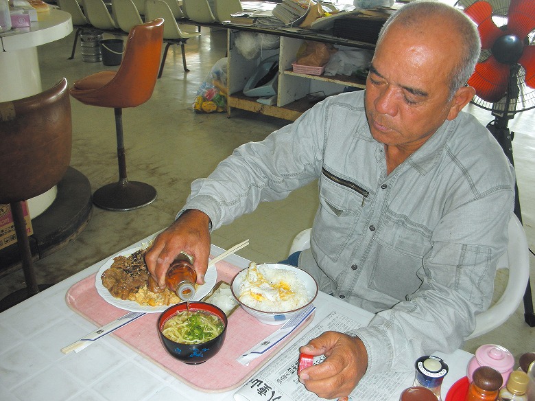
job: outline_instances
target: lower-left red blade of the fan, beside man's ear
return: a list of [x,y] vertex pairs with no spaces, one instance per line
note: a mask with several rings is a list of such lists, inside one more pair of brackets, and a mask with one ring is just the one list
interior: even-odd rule
[[468,80],[468,85],[475,89],[476,95],[487,102],[497,102],[507,91],[509,66],[497,62],[490,56],[484,62],[475,65],[475,72]]

